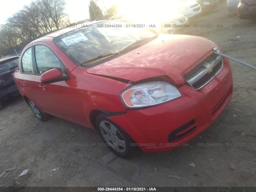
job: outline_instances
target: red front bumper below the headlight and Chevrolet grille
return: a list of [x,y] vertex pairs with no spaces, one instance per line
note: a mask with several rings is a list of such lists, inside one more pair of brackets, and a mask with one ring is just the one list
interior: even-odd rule
[[[141,110],[129,110],[109,119],[122,127],[142,151],[157,152],[182,146],[208,128],[232,97],[230,64],[226,58],[223,61],[222,70],[201,90],[184,85],[179,88],[181,98]],[[181,131],[177,133],[177,130]],[[175,134],[177,137],[173,140]]]

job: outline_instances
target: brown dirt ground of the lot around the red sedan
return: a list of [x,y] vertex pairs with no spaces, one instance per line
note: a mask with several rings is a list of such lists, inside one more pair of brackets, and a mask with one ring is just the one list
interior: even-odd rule
[[[208,38],[224,54],[256,65],[256,20],[240,20],[221,3],[194,23],[213,27],[184,34]],[[21,96],[8,100],[0,110],[0,174],[16,167],[0,186],[256,186],[256,71],[231,64],[233,98],[214,125],[188,146],[108,164],[101,158],[110,150],[92,146],[102,143],[96,132],[56,117],[40,122]]]

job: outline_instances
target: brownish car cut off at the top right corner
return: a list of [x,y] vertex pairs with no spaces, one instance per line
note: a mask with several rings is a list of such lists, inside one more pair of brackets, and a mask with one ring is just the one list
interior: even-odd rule
[[240,19],[256,19],[256,0],[240,0],[237,10]]

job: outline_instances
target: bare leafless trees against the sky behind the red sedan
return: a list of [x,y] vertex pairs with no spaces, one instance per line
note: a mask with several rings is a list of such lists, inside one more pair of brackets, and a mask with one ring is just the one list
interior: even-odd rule
[[34,0],[7,19],[0,29],[0,58],[32,40],[70,24],[65,0]]

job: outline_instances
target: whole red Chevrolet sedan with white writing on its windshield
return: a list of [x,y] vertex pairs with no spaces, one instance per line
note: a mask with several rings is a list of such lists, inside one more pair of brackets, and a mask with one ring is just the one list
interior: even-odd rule
[[229,61],[214,52],[201,37],[91,22],[28,44],[14,80],[39,120],[89,127],[129,158],[181,146],[220,116],[233,82]]

